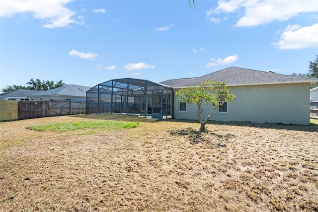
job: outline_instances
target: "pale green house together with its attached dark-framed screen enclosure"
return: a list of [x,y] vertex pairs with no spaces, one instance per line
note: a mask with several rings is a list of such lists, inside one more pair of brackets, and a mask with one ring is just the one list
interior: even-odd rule
[[[236,95],[233,103],[219,107],[210,120],[310,124],[310,111],[307,107],[310,85],[318,82],[318,79],[238,67],[202,77],[166,80],[158,84],[130,78],[111,80],[87,91],[86,97],[92,103],[96,102],[97,112],[137,112],[145,116],[151,114],[153,118],[169,116],[196,120],[197,106],[179,101],[176,92],[206,80],[225,82],[230,92]],[[136,105],[136,110],[132,109],[133,105]],[[93,111],[90,106],[86,102],[87,113]],[[210,111],[211,105],[207,104],[202,116],[207,116]]]

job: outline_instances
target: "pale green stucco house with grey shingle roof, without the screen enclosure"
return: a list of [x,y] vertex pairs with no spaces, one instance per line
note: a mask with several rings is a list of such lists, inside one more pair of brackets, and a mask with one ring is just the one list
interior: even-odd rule
[[[220,108],[216,110],[210,120],[310,124],[310,84],[318,79],[230,67],[169,86],[175,93],[206,80],[225,82],[230,93],[236,95],[233,103],[226,103],[223,111]],[[161,83],[168,84],[169,81]],[[180,109],[182,102],[178,101],[177,96],[173,105],[174,118],[197,119],[197,106],[186,105]],[[207,116],[209,112],[205,109],[202,116]]]

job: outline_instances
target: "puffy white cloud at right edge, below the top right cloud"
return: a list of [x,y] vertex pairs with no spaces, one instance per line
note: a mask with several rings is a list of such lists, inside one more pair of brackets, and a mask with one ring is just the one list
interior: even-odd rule
[[302,49],[318,47],[318,23],[312,26],[288,25],[278,42],[273,46],[279,49]]

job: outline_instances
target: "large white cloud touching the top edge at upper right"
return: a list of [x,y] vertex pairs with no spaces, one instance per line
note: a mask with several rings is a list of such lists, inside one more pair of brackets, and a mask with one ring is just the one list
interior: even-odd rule
[[[286,21],[300,13],[316,12],[314,0],[219,0],[218,6],[206,11],[209,20],[214,14],[244,10],[237,27],[254,27],[272,21]],[[242,9],[241,9],[242,8]]]

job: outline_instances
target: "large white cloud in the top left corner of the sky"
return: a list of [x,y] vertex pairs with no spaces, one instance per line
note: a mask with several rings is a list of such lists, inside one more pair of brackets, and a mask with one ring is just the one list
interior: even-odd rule
[[[76,21],[76,12],[65,4],[73,0],[1,0],[0,16],[12,16],[16,13],[33,14],[34,18],[47,21],[43,27],[66,27],[69,24],[83,24],[83,19]],[[80,16],[79,16],[80,17]]]

